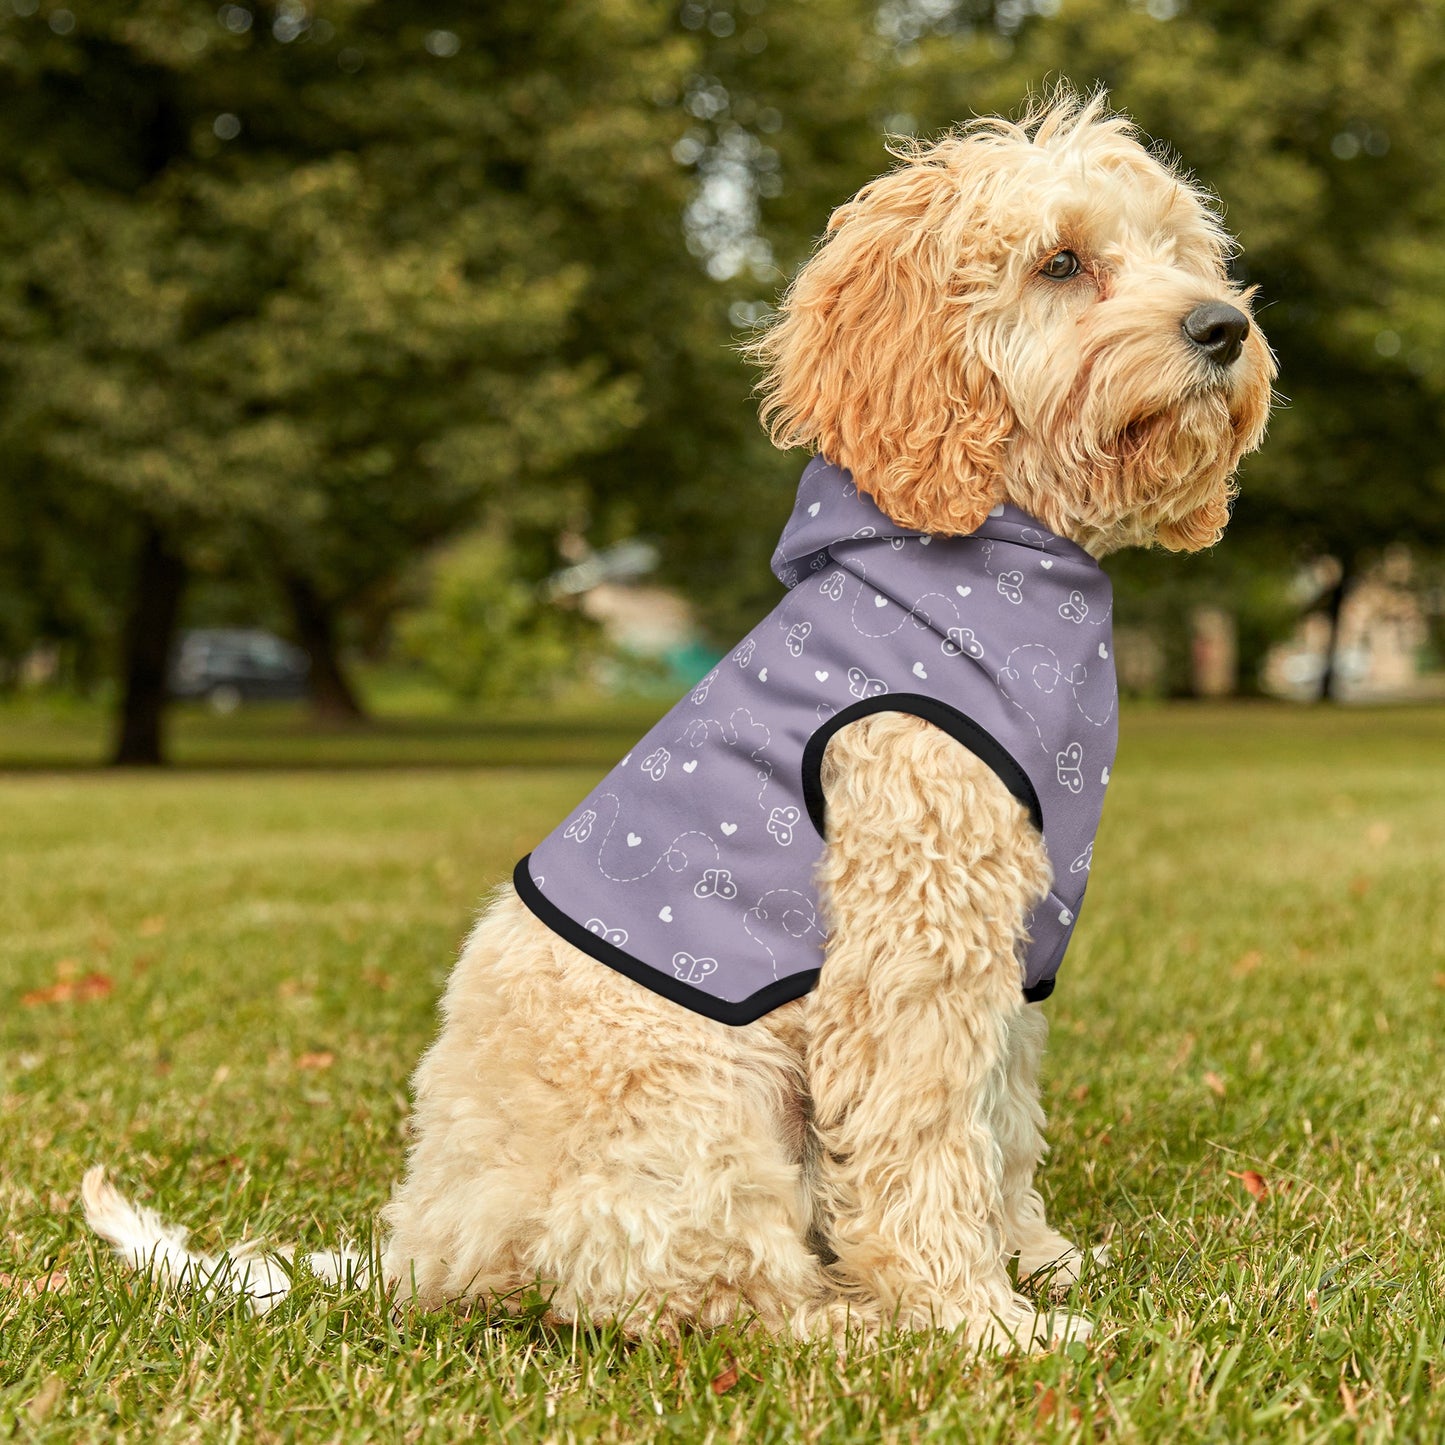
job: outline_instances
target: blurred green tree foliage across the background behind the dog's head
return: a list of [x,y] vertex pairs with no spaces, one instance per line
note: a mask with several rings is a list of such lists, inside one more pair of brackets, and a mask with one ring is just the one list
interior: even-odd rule
[[27,9],[0,9],[0,653],[74,637],[94,669],[147,520],[373,631],[478,520],[532,581],[562,530],[642,533],[730,639],[801,461],[736,342],[884,130],[1059,77],[1244,238],[1287,403],[1225,571],[1445,548],[1442,0]]

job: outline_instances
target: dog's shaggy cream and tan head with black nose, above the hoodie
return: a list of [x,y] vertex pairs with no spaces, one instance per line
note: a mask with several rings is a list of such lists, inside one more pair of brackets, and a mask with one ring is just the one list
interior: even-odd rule
[[834,214],[751,348],[764,420],[903,526],[1007,499],[1095,553],[1209,546],[1274,376],[1228,256],[1103,97],[975,121]]

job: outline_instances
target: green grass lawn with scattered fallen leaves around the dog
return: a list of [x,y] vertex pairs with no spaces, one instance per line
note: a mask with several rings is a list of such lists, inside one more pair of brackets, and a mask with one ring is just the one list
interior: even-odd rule
[[314,1280],[253,1319],[87,1240],[97,1160],[202,1247],[364,1240],[478,897],[642,721],[276,717],[188,722],[163,776],[46,770],[90,724],[0,718],[0,1438],[1445,1439],[1445,711],[1126,712],[1045,1006],[1095,1338],[841,1364]]

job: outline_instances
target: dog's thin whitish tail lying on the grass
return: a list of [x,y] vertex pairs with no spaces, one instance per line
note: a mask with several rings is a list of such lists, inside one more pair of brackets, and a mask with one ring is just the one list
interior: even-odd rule
[[[188,1231],[166,1224],[155,1209],[131,1204],[107,1178],[105,1166],[85,1170],[81,1181],[85,1222],[131,1267],[207,1299],[243,1298],[257,1315],[279,1305],[290,1290],[292,1247],[263,1250],[257,1243],[197,1254],[186,1248]],[[324,1250],[306,1256],[311,1272],[332,1285],[364,1285],[370,1261],[355,1250]]]

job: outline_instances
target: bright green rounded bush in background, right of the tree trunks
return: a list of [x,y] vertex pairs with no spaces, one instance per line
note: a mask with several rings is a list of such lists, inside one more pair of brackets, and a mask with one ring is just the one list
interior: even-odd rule
[[397,637],[461,702],[545,696],[598,655],[597,629],[519,578],[496,533],[461,538],[426,571],[426,600],[399,616]]

